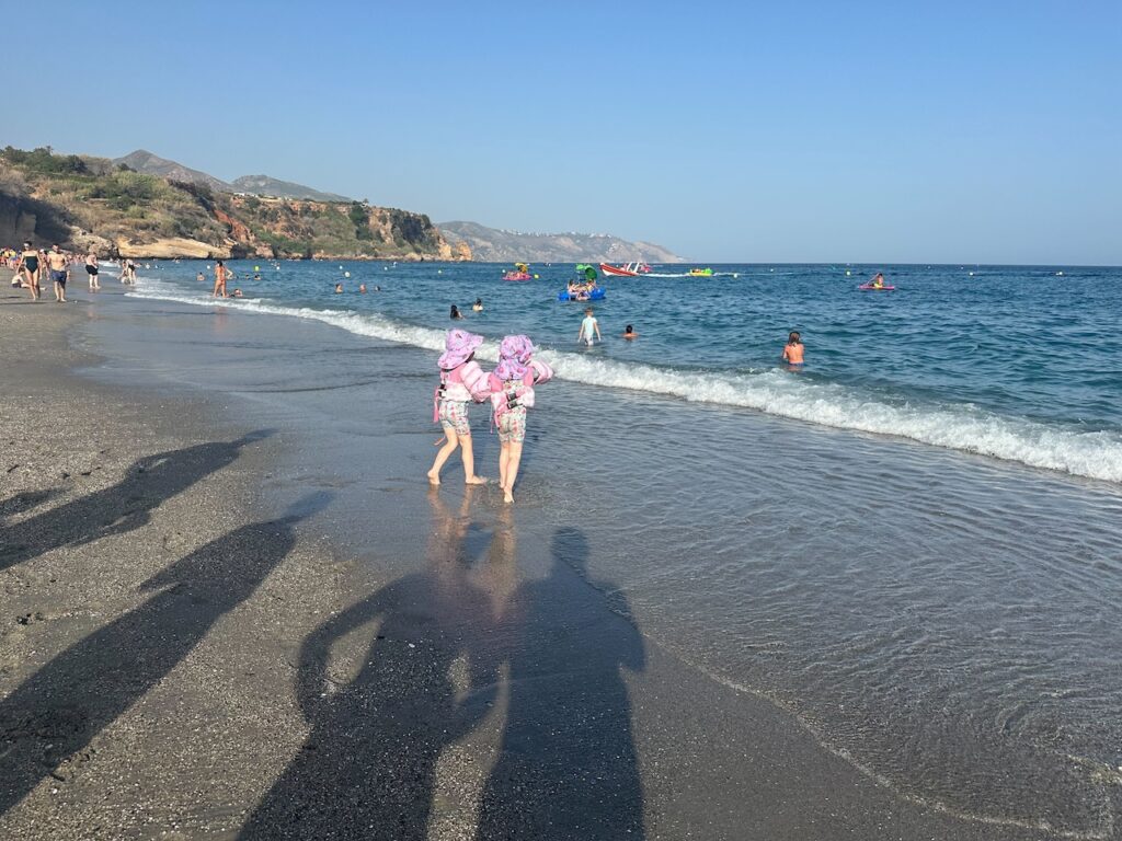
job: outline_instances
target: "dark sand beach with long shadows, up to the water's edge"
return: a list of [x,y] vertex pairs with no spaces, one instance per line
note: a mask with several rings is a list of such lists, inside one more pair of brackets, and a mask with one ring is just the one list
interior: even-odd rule
[[[683,662],[531,480],[432,491],[420,351],[75,297],[0,293],[0,838],[1057,837]],[[362,359],[352,438],[330,382],[268,387],[294,330]]]

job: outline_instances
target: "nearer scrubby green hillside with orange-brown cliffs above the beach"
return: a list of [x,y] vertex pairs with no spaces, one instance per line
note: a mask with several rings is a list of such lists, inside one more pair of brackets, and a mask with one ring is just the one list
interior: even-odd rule
[[236,195],[105,158],[8,147],[0,151],[0,243],[25,239],[126,257],[471,259],[423,214]]

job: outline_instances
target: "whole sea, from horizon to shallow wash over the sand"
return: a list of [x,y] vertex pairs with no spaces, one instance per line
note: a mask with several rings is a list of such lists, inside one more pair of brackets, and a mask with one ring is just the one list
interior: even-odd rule
[[[589,574],[644,637],[902,797],[1112,837],[1122,269],[653,266],[601,279],[604,342],[583,348],[586,305],[558,301],[568,264],[524,283],[494,264],[228,265],[243,296],[223,302],[209,262],[140,269],[138,312],[180,314],[159,348],[92,329],[149,373],[314,431],[292,475],[334,477],[346,521],[368,519],[387,475],[423,487],[444,332],[482,334],[485,366],[525,333],[557,379],[531,415],[518,516],[543,535],[579,525]],[[859,289],[876,271],[895,288]],[[791,331],[801,369],[780,359]],[[485,409],[475,424],[489,466]],[[365,459],[376,433],[404,461],[376,465],[374,443]],[[356,551],[388,539],[349,530]]]

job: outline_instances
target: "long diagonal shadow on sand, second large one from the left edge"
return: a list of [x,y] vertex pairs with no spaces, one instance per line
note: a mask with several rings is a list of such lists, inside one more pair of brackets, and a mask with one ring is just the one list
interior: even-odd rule
[[[201,463],[213,470],[232,460],[240,444],[200,455]],[[168,483],[159,487],[167,490]],[[292,551],[295,524],[328,499],[303,500],[298,515],[243,526],[175,562],[141,585],[155,592],[148,601],[59,654],[0,701],[0,813],[56,774],[62,760],[88,746],[248,599]]]

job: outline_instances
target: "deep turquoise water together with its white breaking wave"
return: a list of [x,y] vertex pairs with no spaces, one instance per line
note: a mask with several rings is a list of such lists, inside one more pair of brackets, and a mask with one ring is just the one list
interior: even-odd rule
[[[458,326],[493,340],[527,333],[574,381],[1122,481],[1118,268],[744,265],[698,278],[656,266],[603,281],[595,309],[606,341],[585,351],[576,342],[583,305],[557,301],[571,266],[534,267],[540,279],[527,283],[503,281],[506,267],[488,264],[230,266],[246,295],[236,307],[435,349],[456,304],[467,316]],[[210,278],[201,262],[142,270],[137,294],[204,303],[199,270]],[[875,270],[895,292],[857,289]],[[471,311],[477,297],[482,313]],[[627,324],[637,341],[620,338]],[[791,330],[807,346],[798,372],[779,362]]]

